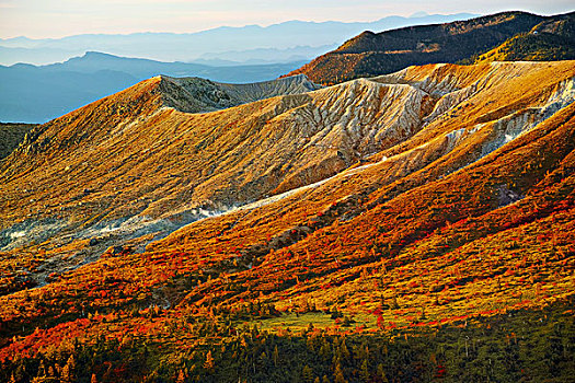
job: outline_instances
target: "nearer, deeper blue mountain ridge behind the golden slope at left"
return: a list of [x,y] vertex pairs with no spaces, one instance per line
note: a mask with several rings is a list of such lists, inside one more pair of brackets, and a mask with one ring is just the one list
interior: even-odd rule
[[45,123],[158,74],[242,83],[272,80],[304,61],[209,67],[95,51],[47,66],[0,66],[0,120]]

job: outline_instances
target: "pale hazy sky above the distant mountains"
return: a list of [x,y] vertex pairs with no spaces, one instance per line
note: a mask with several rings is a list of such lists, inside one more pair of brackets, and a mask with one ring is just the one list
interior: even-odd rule
[[0,0],[0,37],[183,33],[287,20],[372,21],[419,11],[487,14],[522,10],[552,14],[574,9],[573,0]]

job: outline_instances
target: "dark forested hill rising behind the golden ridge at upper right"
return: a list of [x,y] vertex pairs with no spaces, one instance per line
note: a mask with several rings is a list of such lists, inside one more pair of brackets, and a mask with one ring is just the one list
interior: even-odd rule
[[[545,31],[555,36],[561,28],[547,26],[557,22],[571,25],[572,20],[573,13],[545,18],[525,12],[504,12],[467,21],[403,27],[377,34],[367,31],[288,76],[303,73],[317,83],[334,84],[361,77],[391,73],[412,65],[458,62],[494,49],[533,28],[537,31],[538,25],[541,26],[541,32]],[[539,37],[538,40],[543,42],[544,37]],[[562,42],[566,42],[565,37],[553,42],[554,48],[547,49],[555,51],[544,54],[541,59],[571,58],[572,45]],[[520,43],[507,43],[507,46],[517,47],[517,44]],[[534,48],[538,45],[531,46]]]

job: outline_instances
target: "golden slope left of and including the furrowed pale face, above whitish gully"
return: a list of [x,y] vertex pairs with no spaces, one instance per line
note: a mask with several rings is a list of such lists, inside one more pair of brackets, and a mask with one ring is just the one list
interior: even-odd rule
[[[166,230],[158,219],[185,223],[318,182],[412,136],[433,107],[412,86],[357,80],[191,114],[166,106],[198,100],[174,86],[152,79],[35,130],[3,164],[4,245],[48,225],[89,237],[133,218]],[[243,86],[237,97],[252,98]]]

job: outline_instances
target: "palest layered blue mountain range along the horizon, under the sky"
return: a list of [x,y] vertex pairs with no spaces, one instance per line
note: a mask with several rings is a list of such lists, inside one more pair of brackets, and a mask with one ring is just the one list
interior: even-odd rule
[[[309,60],[335,48],[365,30],[386,31],[406,25],[444,23],[476,16],[414,14],[375,22],[288,21],[269,26],[222,26],[197,33],[135,33],[129,35],[76,35],[64,38],[0,39],[0,65],[45,65],[81,56],[89,50],[160,61],[225,60],[246,63]],[[264,51],[262,51],[264,49]]]

